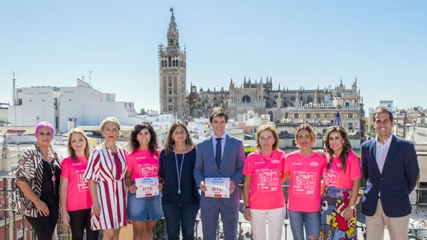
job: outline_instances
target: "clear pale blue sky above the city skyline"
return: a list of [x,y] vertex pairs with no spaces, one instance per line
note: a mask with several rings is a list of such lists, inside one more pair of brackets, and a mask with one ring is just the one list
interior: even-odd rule
[[[348,87],[367,107],[427,107],[427,1],[0,1],[0,102],[17,87],[92,83],[158,109],[159,43],[170,6],[187,48],[187,88],[273,78]],[[86,78],[87,79],[87,78]]]

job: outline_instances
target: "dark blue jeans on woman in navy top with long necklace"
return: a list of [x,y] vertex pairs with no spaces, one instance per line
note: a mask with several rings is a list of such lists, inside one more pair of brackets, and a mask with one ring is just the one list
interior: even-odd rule
[[165,215],[167,239],[178,240],[180,228],[183,228],[183,240],[194,240],[194,224],[198,205],[162,204]]

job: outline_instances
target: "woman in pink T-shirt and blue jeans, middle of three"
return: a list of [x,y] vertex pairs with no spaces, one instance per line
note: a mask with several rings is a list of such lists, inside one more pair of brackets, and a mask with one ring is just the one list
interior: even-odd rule
[[282,180],[289,176],[288,212],[293,239],[303,240],[319,237],[320,232],[320,181],[326,158],[311,148],[316,133],[309,124],[301,124],[295,132],[299,151],[289,153],[284,161]]

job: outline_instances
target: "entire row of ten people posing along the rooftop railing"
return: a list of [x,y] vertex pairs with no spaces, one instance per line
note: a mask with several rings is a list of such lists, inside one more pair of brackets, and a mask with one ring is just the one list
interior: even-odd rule
[[[299,150],[285,154],[275,127],[263,125],[256,133],[258,150],[245,157],[242,141],[225,133],[227,121],[223,109],[213,109],[213,133],[195,146],[178,120],[161,151],[152,125],[142,122],[132,129],[127,153],[116,144],[120,123],[106,118],[100,127],[103,144],[90,153],[85,133],[73,129],[69,156],[62,161],[50,146],[52,125],[41,122],[37,143],[23,153],[17,168],[19,213],[42,240],[52,239],[59,219],[70,224],[72,239],[83,239],[84,230],[87,240],[98,239],[98,230],[103,239],[118,239],[129,221],[134,239],[152,239],[162,217],[168,239],[193,240],[200,208],[203,239],[216,239],[219,216],[225,239],[236,239],[238,185],[243,183],[243,214],[253,239],[281,239],[287,210],[293,239],[357,239],[355,206],[364,177],[366,237],[382,239],[387,226],[391,239],[407,238],[408,195],[419,167],[413,144],[391,134],[393,115],[386,109],[375,112],[377,138],[362,144],[362,167],[342,127],[330,127],[324,151],[313,151],[316,133],[301,124],[295,132]],[[162,194],[137,197],[141,177],[157,177]],[[282,183],[288,177],[286,206]],[[229,195],[206,196],[208,178],[229,182]]]

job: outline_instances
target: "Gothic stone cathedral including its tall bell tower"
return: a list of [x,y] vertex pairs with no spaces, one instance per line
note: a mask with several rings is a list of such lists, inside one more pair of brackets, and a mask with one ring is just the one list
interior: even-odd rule
[[340,113],[344,128],[360,131],[360,120],[364,118],[363,100],[357,89],[357,78],[351,87],[338,83],[335,87],[315,89],[273,88],[271,76],[260,80],[244,77],[238,85],[230,80],[228,89],[198,89],[191,83],[187,93],[186,52],[180,50],[179,34],[176,28],[174,9],[167,30],[167,46],[159,45],[160,111],[172,113],[177,118],[189,119],[208,117],[215,107],[222,107],[229,118],[242,121],[244,115],[253,113],[269,114],[275,123],[324,123],[333,122]]

